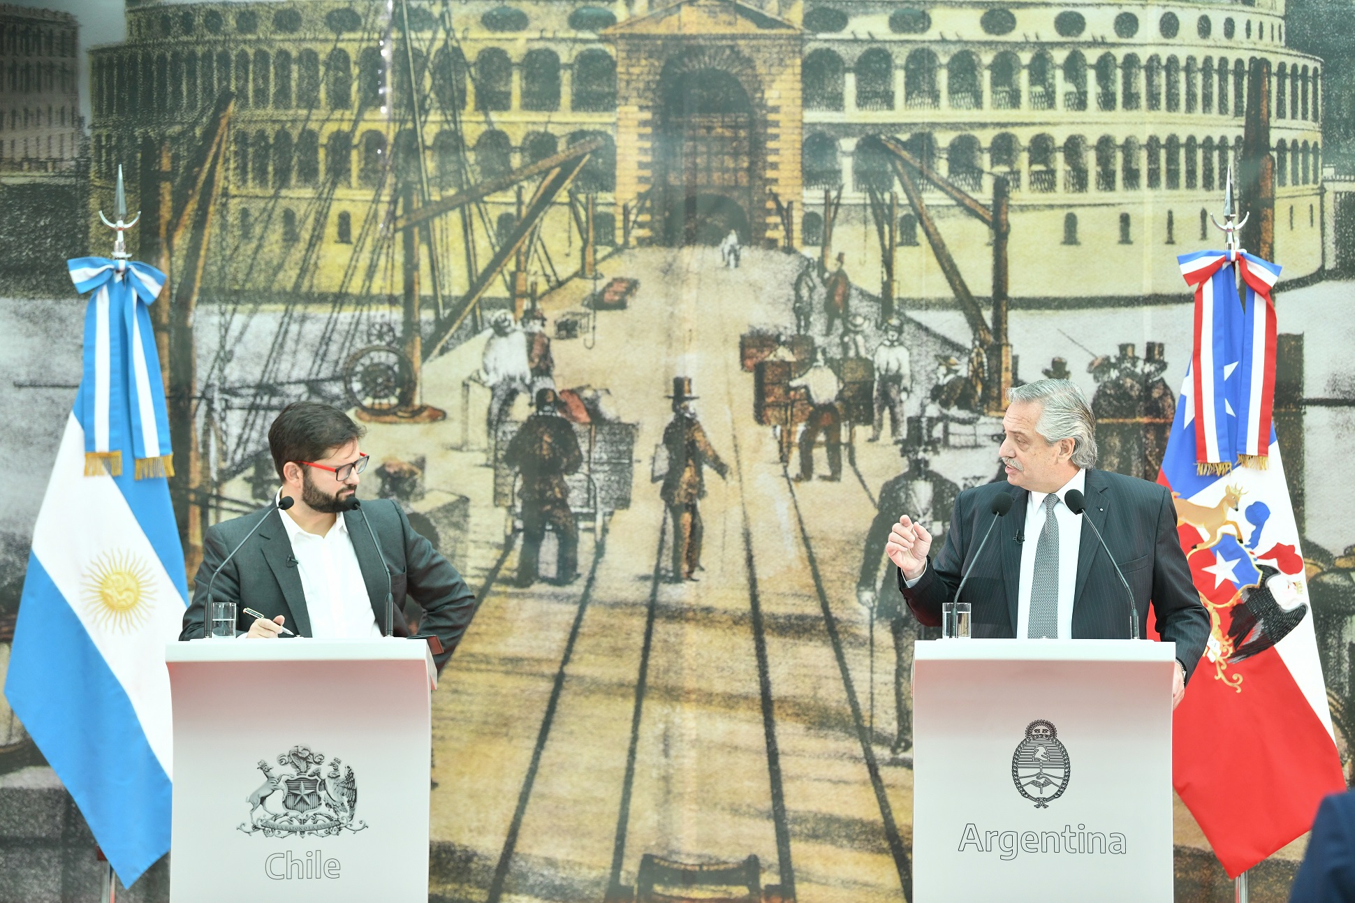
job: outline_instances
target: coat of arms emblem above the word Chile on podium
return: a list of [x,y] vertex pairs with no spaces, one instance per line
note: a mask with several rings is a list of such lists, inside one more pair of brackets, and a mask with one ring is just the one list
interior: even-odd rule
[[294,746],[278,757],[289,773],[275,774],[274,767],[259,759],[264,782],[251,793],[249,820],[238,826],[245,834],[264,837],[333,837],[344,831],[362,831],[366,822],[355,822],[358,781],[352,766],[329,759],[308,746]]

